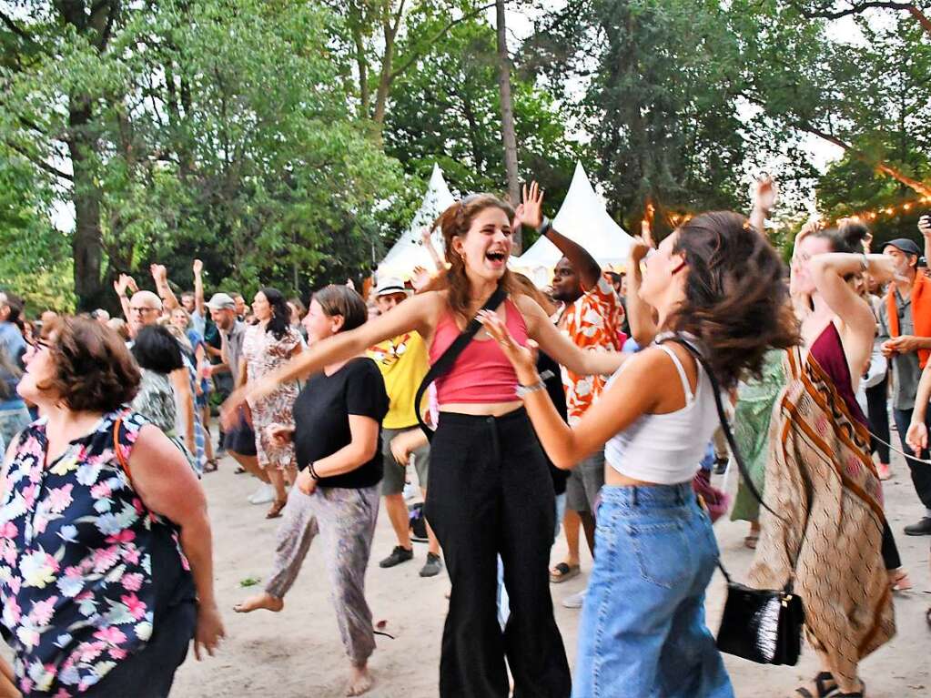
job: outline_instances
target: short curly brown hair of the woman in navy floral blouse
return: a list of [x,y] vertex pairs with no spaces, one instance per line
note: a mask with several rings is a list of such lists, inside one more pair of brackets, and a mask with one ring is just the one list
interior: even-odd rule
[[39,390],[61,397],[74,411],[112,412],[139,391],[139,369],[126,343],[96,320],[67,317],[48,342],[55,375]]

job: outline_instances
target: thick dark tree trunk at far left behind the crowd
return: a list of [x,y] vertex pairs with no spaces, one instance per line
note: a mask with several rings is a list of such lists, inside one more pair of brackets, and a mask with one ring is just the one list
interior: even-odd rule
[[78,310],[92,310],[101,303],[101,190],[94,182],[92,164],[93,139],[87,127],[91,119],[89,101],[72,98],[68,114],[70,135],[68,152],[74,172],[74,293]]

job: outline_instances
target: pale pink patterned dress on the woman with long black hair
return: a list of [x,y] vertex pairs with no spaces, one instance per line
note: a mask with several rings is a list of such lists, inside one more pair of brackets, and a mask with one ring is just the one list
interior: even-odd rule
[[[265,331],[262,325],[247,328],[246,337],[242,342],[242,356],[246,362],[249,383],[258,381],[266,373],[287,363],[291,353],[300,343],[300,335],[290,328],[280,340],[272,332]],[[291,408],[297,394],[297,383],[285,383],[279,385],[271,395],[255,402],[250,401],[255,450],[259,457],[259,465],[263,468],[275,467],[282,470],[295,462],[293,443],[285,447],[277,446],[268,436],[268,427],[281,424],[293,428],[294,416]]]

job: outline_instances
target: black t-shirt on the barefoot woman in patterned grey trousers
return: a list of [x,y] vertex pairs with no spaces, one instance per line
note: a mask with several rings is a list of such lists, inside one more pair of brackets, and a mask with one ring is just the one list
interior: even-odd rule
[[350,359],[331,376],[317,373],[294,400],[294,446],[299,468],[326,458],[352,442],[349,415],[378,423],[379,446],[371,461],[334,477],[321,477],[318,487],[358,490],[382,479],[382,420],[388,413],[385,379],[371,358]]

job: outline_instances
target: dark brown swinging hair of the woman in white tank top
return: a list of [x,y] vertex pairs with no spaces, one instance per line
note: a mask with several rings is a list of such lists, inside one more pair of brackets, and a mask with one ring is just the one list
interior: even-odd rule
[[666,329],[695,335],[722,387],[759,376],[767,350],[801,342],[784,265],[744,216],[695,216],[679,228],[673,253],[684,255],[688,275],[685,300]]

